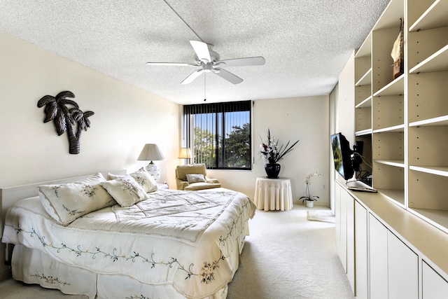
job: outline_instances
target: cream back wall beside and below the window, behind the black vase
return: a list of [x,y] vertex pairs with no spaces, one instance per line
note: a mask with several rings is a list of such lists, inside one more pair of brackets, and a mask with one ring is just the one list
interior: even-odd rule
[[[288,99],[260,99],[253,105],[253,153],[252,171],[209,170],[210,177],[219,179],[224,187],[239,190],[253,199],[255,180],[266,176],[265,162],[259,153],[261,138],[266,141],[267,129],[271,137],[286,144],[300,139],[295,149],[288,153],[281,165],[280,176],[290,178],[293,200],[305,195],[305,176],[321,172],[324,176],[311,179],[311,195],[319,198],[316,204],[328,205],[330,135],[328,131],[328,95],[295,97]],[[325,189],[323,186],[325,185]]]

